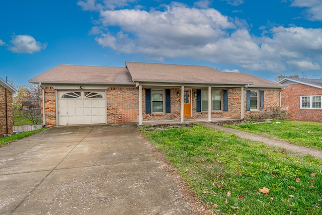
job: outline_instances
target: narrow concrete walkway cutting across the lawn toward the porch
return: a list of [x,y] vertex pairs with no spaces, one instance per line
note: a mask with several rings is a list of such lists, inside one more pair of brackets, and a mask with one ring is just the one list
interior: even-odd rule
[[210,123],[210,122],[204,122],[204,121],[200,121],[198,122],[200,125],[203,126],[207,126],[210,128],[213,128],[215,130],[222,130],[225,131],[227,133],[233,133],[237,136],[240,136],[241,138],[244,139],[251,139],[254,141],[259,141],[259,142],[263,142],[264,144],[268,145],[268,146],[272,146],[272,147],[279,147],[288,151],[292,151],[295,153],[298,153],[300,155],[311,155],[315,158],[319,158],[322,159],[322,151],[320,150],[315,150],[315,149],[311,149],[311,148],[307,148],[307,147],[301,147],[301,146],[296,146],[293,144],[289,144],[287,142],[281,141],[281,140],[276,140],[273,138],[268,138],[268,137],[264,137],[258,134],[253,134],[253,133],[248,133],[245,131],[240,131],[240,130],[236,130],[236,129],[232,129],[232,128],[227,128],[221,125],[216,125],[214,123]]

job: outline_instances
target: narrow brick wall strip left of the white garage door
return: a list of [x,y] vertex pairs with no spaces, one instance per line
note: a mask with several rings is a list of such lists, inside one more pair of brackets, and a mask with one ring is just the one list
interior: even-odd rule
[[[52,87],[44,87],[45,89],[45,119],[46,126],[56,125],[56,100],[55,90]],[[42,92],[40,98],[41,104],[41,120],[43,120],[43,105],[42,105]]]

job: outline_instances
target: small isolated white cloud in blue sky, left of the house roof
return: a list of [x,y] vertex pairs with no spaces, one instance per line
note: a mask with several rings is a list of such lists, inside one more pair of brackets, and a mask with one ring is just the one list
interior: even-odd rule
[[37,42],[35,38],[29,35],[15,35],[10,42],[9,50],[14,53],[32,54],[47,47],[47,44]]

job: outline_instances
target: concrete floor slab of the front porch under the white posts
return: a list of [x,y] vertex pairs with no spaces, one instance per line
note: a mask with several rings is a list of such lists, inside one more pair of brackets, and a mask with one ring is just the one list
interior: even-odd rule
[[181,120],[154,120],[154,121],[143,121],[142,125],[158,125],[158,124],[189,124],[189,123],[198,123],[198,122],[222,122],[222,121],[235,121],[240,120],[240,118],[230,118],[230,117],[217,117],[211,118],[211,121],[208,121],[207,118],[203,119],[185,119],[184,122]]

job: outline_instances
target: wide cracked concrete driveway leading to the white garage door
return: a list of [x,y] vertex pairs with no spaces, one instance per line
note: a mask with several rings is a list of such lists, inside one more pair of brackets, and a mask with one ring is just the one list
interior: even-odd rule
[[61,126],[0,148],[0,214],[192,214],[135,124]]

